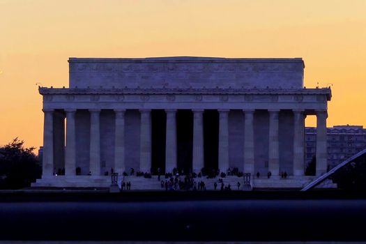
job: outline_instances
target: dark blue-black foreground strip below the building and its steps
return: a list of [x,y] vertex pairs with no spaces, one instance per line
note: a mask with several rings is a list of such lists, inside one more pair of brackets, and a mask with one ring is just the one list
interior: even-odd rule
[[1,240],[366,241],[365,192],[0,192]]

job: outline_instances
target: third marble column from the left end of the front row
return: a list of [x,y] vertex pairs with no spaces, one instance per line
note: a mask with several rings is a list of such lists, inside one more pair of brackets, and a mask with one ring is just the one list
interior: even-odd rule
[[100,109],[90,112],[90,171],[92,176],[100,176]]

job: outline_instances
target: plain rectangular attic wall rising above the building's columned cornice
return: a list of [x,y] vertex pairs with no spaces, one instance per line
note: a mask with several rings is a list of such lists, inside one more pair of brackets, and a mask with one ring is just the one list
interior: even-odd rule
[[303,88],[303,59],[69,59],[70,88]]

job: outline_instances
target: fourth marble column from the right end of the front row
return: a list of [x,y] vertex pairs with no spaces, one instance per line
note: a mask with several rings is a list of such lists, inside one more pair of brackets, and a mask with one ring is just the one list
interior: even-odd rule
[[254,109],[244,112],[244,173],[254,176]]

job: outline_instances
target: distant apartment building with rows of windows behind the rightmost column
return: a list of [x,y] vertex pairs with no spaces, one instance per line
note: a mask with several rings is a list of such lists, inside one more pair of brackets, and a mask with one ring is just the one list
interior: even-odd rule
[[[327,128],[328,168],[344,161],[366,148],[366,128],[362,125],[335,125]],[[306,162],[309,163],[317,151],[317,128],[305,128]]]

